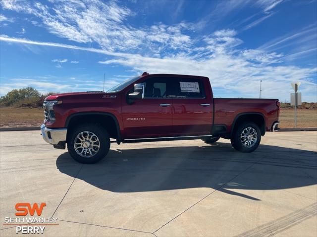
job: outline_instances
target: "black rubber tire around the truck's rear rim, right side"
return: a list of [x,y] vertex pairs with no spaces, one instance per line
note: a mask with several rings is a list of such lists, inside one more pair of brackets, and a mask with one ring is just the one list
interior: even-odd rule
[[[254,134],[256,133],[257,140],[253,143],[251,147],[247,147],[248,145],[244,145],[243,141],[246,141],[247,139],[241,138],[242,132],[246,131],[245,129],[247,128],[253,128],[254,129]],[[252,129],[250,129],[252,131]],[[245,133],[244,133],[245,134]],[[252,139],[255,138],[255,135],[252,136]],[[234,149],[236,149],[239,152],[243,153],[250,153],[255,151],[261,142],[261,131],[260,128],[257,124],[254,122],[244,122],[238,125],[232,134],[232,137],[230,139],[231,145],[233,146]],[[251,141],[250,141],[251,142]]]

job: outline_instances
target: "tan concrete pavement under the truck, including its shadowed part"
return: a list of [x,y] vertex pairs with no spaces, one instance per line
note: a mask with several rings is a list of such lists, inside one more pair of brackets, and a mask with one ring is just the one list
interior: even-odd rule
[[17,202],[46,202],[44,236],[317,236],[317,132],[267,132],[251,154],[220,139],[111,143],[79,164],[39,131],[0,132],[0,236]]

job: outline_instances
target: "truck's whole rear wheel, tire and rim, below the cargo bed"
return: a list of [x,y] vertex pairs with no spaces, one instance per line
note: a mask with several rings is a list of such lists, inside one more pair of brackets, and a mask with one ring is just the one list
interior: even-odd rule
[[230,139],[231,145],[239,152],[255,151],[261,142],[261,131],[254,122],[245,122],[234,130]]

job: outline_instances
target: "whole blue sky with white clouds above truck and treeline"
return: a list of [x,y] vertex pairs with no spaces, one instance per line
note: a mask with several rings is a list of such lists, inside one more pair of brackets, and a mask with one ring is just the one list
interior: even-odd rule
[[317,101],[317,0],[1,0],[0,94],[103,90],[143,71],[216,97]]

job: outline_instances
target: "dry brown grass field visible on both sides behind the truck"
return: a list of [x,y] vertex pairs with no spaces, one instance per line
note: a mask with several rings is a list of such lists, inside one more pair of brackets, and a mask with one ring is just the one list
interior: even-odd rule
[[[297,127],[317,127],[317,110],[297,110]],[[0,127],[40,126],[44,119],[43,109],[0,108]],[[281,109],[280,128],[294,127],[294,110]]]

